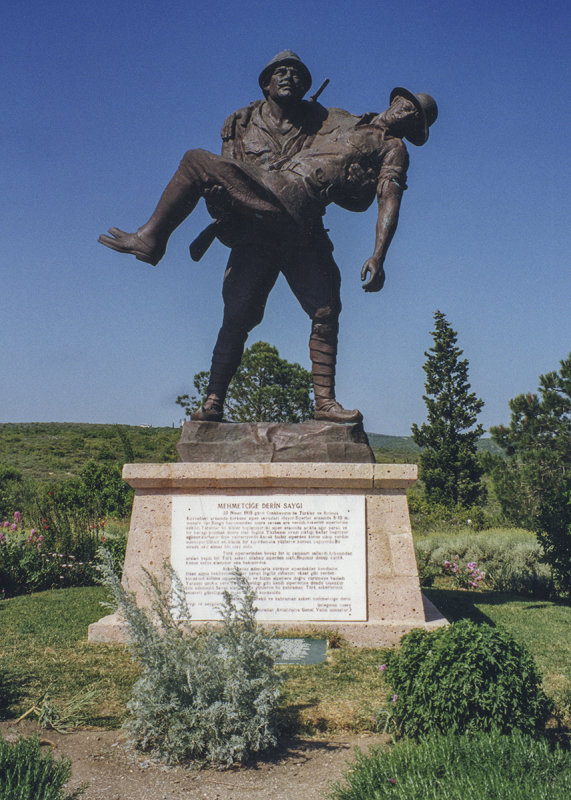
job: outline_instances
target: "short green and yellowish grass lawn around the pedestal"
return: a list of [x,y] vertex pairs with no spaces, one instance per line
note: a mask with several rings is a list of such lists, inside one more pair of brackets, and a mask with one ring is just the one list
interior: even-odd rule
[[[450,620],[471,617],[504,625],[535,657],[544,687],[559,705],[571,695],[571,609],[495,593],[429,590]],[[15,718],[45,692],[54,706],[89,689],[99,694],[89,722],[117,726],[137,676],[126,648],[87,643],[87,626],[102,616],[105,590],[86,587],[39,592],[0,602],[0,715]],[[342,647],[327,661],[288,666],[283,706],[305,733],[374,730],[384,704],[379,673],[383,650]]]

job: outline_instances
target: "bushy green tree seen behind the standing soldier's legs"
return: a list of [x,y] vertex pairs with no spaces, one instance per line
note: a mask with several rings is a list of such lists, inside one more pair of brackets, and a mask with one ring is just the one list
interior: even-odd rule
[[[198,372],[196,394],[183,394],[176,402],[190,414],[206,398],[208,372]],[[225,416],[230,422],[302,422],[313,417],[311,372],[283,358],[267,342],[244,351],[242,362],[226,395]]]

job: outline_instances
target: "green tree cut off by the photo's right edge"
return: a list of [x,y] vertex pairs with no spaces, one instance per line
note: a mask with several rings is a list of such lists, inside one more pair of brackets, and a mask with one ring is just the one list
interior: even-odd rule
[[535,531],[558,588],[571,591],[571,353],[539,376],[538,394],[510,400],[509,427],[491,429],[506,458],[489,458],[505,515]]

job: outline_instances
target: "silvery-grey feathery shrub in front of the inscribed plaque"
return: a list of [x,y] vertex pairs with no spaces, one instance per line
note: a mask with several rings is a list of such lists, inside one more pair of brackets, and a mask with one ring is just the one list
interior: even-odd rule
[[124,591],[109,556],[103,552],[101,558],[102,582],[141,663],[125,723],[134,743],[167,763],[222,766],[274,746],[282,677],[275,670],[277,648],[256,623],[247,581],[235,574],[238,604],[224,592],[221,631],[185,636],[178,620],[189,620],[190,613],[171,569],[160,582],[147,574],[152,608],[146,611]]

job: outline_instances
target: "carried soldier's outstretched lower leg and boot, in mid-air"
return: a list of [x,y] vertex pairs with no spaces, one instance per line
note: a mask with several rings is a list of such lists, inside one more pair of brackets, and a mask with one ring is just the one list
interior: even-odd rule
[[139,261],[159,263],[167,249],[171,233],[178,228],[200,199],[200,189],[190,181],[183,166],[177,169],[161,195],[151,217],[135,233],[109,228],[98,241],[119,253],[130,253]]

